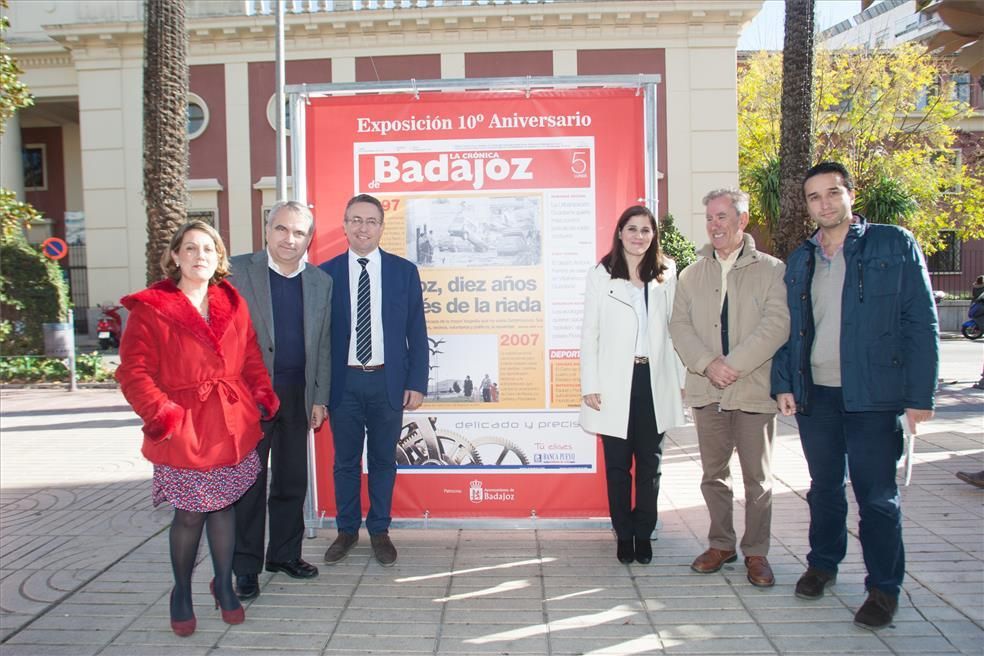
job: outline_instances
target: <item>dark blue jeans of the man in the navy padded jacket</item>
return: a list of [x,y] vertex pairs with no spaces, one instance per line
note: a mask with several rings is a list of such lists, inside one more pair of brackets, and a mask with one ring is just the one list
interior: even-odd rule
[[865,588],[898,597],[905,575],[902,511],[895,483],[902,430],[895,412],[847,412],[839,387],[814,385],[809,415],[797,413],[810,468],[811,567],[837,573],[847,552],[846,474],[860,515]]

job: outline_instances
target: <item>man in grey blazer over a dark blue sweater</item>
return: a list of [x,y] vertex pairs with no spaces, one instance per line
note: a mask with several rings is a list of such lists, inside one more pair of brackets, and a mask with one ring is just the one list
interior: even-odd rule
[[264,250],[230,260],[236,287],[249,305],[263,362],[280,398],[280,412],[264,424],[256,447],[263,469],[235,504],[236,594],[260,593],[269,456],[270,540],[266,570],[312,578],[318,568],[301,558],[307,493],[307,433],[327,415],[331,381],[331,277],[307,265],[314,217],[303,203],[280,201],[266,221]]

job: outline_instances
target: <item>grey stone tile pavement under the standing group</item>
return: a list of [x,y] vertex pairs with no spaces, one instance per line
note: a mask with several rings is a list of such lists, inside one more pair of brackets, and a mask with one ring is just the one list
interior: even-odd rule
[[[139,421],[116,390],[4,389],[0,656],[984,654],[984,491],[953,476],[984,469],[974,366],[952,382],[944,377],[937,418],[918,438],[913,481],[903,488],[907,577],[894,625],[878,633],[851,622],[864,598],[856,516],[831,594],[793,596],[807,551],[809,479],[795,423],[783,420],[772,589],[752,587],[740,561],[716,574],[690,571],[707,516],[689,428],[666,445],[648,566],[620,565],[600,522],[396,528],[396,567],[372,560],[363,535],[347,560],[322,566],[313,581],[263,574],[262,594],[234,627],[211,608],[203,560],[198,631],[178,638],[167,621],[171,513],[150,505]],[[305,558],[320,563],[333,538],[321,530],[305,540]]]

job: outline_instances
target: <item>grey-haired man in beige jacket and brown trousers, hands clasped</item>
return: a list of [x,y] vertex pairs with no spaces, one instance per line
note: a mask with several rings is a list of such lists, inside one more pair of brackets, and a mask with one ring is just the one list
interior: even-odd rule
[[704,197],[707,237],[697,262],[680,274],[670,334],[687,367],[704,473],[700,489],[711,516],[707,551],[690,566],[716,572],[737,558],[731,454],[745,481],[741,551],[748,580],[775,584],[767,554],[772,525],[772,356],[789,338],[785,266],[745,234],[748,194],[717,189]]

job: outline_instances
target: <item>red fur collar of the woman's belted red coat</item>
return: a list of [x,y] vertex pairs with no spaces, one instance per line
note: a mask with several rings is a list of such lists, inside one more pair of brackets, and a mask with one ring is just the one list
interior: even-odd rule
[[169,323],[211,346],[216,353],[222,355],[222,336],[232,324],[241,301],[242,297],[239,293],[224,280],[217,285],[209,285],[210,323],[206,323],[198,314],[198,310],[188,301],[188,297],[169,279],[154,283],[135,294],[124,296],[120,303],[128,310],[132,310],[138,303],[143,303]]

